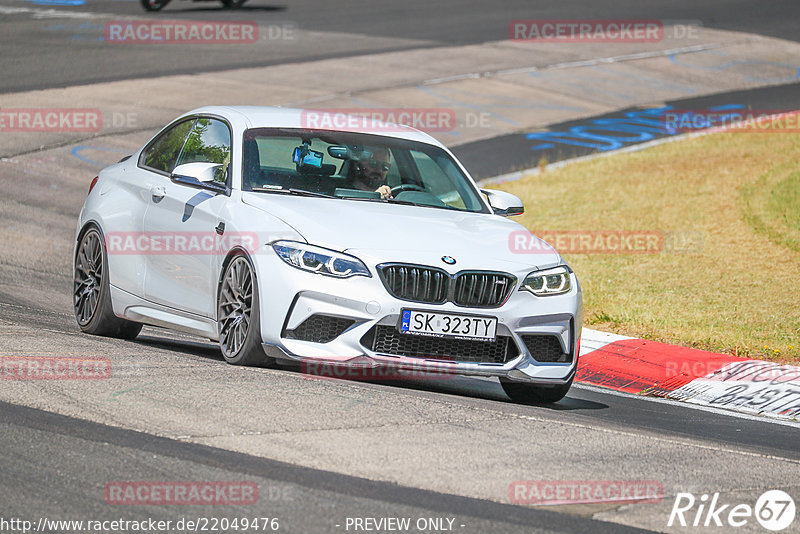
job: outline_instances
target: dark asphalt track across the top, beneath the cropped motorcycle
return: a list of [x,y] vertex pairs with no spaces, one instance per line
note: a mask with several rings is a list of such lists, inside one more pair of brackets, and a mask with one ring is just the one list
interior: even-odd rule
[[[145,13],[135,0],[88,0],[84,5],[70,7],[44,0],[4,0],[1,5],[38,9],[50,6],[60,11],[108,16],[30,20],[0,12],[0,72],[4,73],[0,77],[0,93],[499,41],[508,38],[509,22],[515,19],[686,21],[800,41],[800,6],[794,0],[509,0],[501,4],[483,0],[250,0],[240,10],[223,10],[217,2],[172,0],[157,14]],[[261,47],[181,46],[176,50],[174,46],[137,45],[110,50],[115,45],[103,42],[103,25],[115,18],[246,20],[262,27],[292,24],[300,30],[320,32],[318,36],[329,33],[339,38],[333,42],[319,38],[290,43],[278,40]],[[64,46],[65,42],[68,46]],[[447,58],[442,57],[441,61]],[[369,77],[370,73],[367,70],[363,75]]]

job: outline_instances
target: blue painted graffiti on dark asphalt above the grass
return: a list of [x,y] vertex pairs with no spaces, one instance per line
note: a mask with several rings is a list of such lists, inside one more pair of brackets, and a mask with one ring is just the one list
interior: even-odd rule
[[[742,104],[726,104],[710,106],[708,111],[729,111],[744,107]],[[663,118],[664,112],[671,109],[672,106],[663,106],[629,111],[624,117],[594,119],[587,124],[579,124],[562,131],[531,132],[526,134],[525,138],[539,141],[530,147],[531,150],[548,150],[554,148],[556,144],[589,148],[600,152],[617,150],[626,145],[650,141],[657,135],[671,136],[680,133],[680,128],[670,126]]]

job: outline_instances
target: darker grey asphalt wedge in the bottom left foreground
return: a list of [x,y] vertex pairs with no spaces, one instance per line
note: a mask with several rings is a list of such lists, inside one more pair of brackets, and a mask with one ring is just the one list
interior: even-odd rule
[[[31,408],[5,403],[0,407],[3,456],[23,459],[3,465],[6,475],[15,475],[22,482],[3,499],[6,518],[29,517],[35,509],[38,515],[51,519],[87,515],[101,521],[118,519],[122,514],[103,502],[103,487],[109,479],[157,479],[167,473],[181,479],[191,473],[204,480],[239,480],[244,476],[256,482],[263,498],[244,517],[278,518],[280,530],[287,532],[332,531],[337,525],[345,525],[347,517],[381,515],[454,518],[458,530],[470,532],[637,531],[579,516],[298,467]],[[24,461],[31,457],[46,458],[44,469],[32,470]],[[125,466],[121,468],[123,458]],[[158,458],[158,462],[152,458]],[[88,463],[92,465],[90,472],[86,471]],[[50,479],[52,470],[60,472],[57,481]],[[233,519],[242,517],[240,514],[235,506],[217,507],[210,517]],[[187,513],[175,507],[151,506],[125,517],[177,522]]]

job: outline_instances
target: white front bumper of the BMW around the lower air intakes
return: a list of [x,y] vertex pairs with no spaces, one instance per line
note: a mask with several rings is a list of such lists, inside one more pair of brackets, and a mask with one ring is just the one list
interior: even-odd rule
[[[390,366],[551,385],[567,383],[575,373],[583,306],[574,274],[573,288],[564,295],[536,297],[519,291],[518,282],[502,307],[486,309],[465,308],[450,302],[437,305],[399,300],[386,291],[374,267],[370,268],[372,278],[336,279],[290,267],[274,254],[261,254],[258,260],[262,341],[271,357],[301,364]],[[512,274],[522,280],[527,273]],[[503,363],[475,363],[429,358],[424,354],[411,357],[375,352],[362,342],[378,325],[396,327],[402,309],[496,317],[497,335],[510,338],[513,354]],[[313,315],[339,317],[353,323],[326,343],[291,339],[287,335]],[[523,341],[522,336],[528,335],[554,336],[562,352],[569,355],[568,361],[537,361]]]

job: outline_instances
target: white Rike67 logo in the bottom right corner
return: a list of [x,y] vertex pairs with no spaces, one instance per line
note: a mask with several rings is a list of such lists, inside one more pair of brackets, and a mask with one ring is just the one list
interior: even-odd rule
[[755,518],[765,529],[778,532],[789,527],[794,516],[794,499],[781,490],[764,492],[755,506],[723,503],[719,493],[704,493],[699,499],[691,493],[678,493],[667,526],[739,528]]

